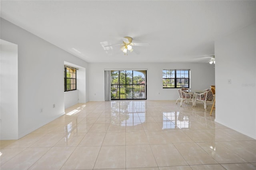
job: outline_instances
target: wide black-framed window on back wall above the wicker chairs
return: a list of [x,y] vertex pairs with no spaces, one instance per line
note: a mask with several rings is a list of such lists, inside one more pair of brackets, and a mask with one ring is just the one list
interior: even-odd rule
[[164,69],[163,70],[163,88],[189,88],[189,74],[188,69]]

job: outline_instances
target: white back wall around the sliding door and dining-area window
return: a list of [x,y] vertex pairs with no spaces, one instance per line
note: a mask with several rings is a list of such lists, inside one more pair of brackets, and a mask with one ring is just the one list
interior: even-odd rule
[[89,63],[90,101],[105,99],[104,69],[147,69],[148,100],[178,99],[177,89],[162,88],[163,69],[191,69],[191,89],[203,90],[215,84],[214,65],[209,63]]

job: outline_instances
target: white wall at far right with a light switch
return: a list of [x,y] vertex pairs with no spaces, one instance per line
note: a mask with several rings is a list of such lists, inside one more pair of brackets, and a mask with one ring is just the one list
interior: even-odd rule
[[256,23],[217,40],[215,57],[215,121],[256,139]]

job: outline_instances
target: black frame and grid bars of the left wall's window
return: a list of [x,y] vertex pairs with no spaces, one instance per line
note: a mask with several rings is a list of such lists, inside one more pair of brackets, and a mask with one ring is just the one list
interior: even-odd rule
[[[71,72],[67,72],[67,68],[68,69],[72,69],[74,72],[72,73],[71,77],[67,77],[67,73],[71,73]],[[77,84],[76,84],[76,77],[77,77],[77,69],[74,67],[68,67],[68,66],[64,66],[64,92],[67,91],[73,91],[77,89]],[[68,79],[70,79],[70,83],[68,83]],[[72,80],[72,81],[71,81]],[[71,83],[72,82],[72,83]],[[68,88],[68,85],[70,85],[70,89]],[[71,88],[71,85],[73,85],[73,88]],[[75,85],[75,88],[74,88]]]

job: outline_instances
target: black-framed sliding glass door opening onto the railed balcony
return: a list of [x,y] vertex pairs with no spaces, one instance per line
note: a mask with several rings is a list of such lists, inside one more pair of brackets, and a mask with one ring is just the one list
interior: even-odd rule
[[146,70],[111,71],[111,100],[146,99]]

